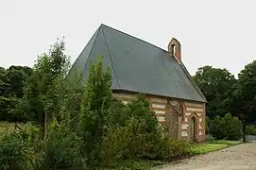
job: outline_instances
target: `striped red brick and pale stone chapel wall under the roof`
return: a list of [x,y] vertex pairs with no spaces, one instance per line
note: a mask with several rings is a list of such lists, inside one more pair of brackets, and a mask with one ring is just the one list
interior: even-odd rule
[[[131,93],[114,93],[114,96],[125,104],[135,98]],[[172,138],[190,142],[206,140],[205,103],[150,94],[147,94],[146,98],[150,103],[150,109],[155,111],[158,121],[168,128]],[[192,120],[195,121],[194,135]]]

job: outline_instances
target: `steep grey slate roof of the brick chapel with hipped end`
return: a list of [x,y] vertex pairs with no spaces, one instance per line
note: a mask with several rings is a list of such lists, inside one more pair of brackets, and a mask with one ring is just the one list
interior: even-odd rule
[[73,69],[89,76],[91,61],[111,65],[112,90],[141,92],[206,102],[184,65],[169,52],[124,32],[101,25]]

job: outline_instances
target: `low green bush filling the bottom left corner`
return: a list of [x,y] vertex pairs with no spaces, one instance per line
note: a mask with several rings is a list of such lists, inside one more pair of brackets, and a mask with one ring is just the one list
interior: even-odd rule
[[30,124],[10,132],[0,141],[0,166],[3,169],[41,169],[43,152],[40,129]]

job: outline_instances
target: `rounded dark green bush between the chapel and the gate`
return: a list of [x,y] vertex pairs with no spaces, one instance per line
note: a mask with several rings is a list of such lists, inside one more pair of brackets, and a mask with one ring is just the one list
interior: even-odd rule
[[242,122],[235,116],[227,113],[224,117],[218,115],[213,119],[210,132],[217,140],[239,140],[243,135]]

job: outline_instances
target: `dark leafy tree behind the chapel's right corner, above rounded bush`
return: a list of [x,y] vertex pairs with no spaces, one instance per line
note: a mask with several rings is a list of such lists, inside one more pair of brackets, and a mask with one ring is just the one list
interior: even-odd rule
[[237,80],[227,69],[206,65],[197,70],[194,79],[208,100],[206,112],[210,118],[230,112],[232,92]]

